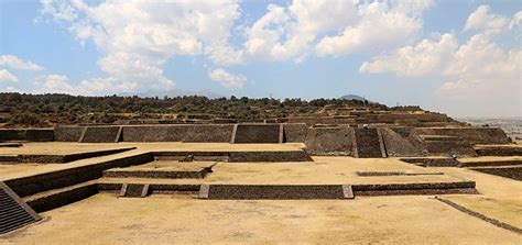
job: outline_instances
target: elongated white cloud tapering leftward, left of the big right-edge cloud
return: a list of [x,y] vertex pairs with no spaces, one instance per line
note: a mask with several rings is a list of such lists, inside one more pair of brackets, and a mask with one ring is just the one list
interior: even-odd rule
[[391,55],[377,56],[373,62],[365,62],[359,71],[366,74],[391,71],[399,77],[435,75],[444,69],[446,62],[457,48],[456,38],[446,33],[436,41],[423,40],[415,46],[399,48]]

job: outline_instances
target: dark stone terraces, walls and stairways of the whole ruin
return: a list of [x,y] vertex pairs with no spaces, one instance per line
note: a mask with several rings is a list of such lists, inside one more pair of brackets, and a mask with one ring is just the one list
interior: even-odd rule
[[[325,108],[315,116],[237,122],[207,115],[187,116],[175,124],[59,125],[54,129],[0,130],[2,148],[37,142],[107,144],[104,149],[69,154],[0,154],[0,164],[59,163],[65,167],[2,178],[6,203],[19,205],[0,221],[0,233],[40,220],[36,212],[52,210],[100,191],[144,198],[151,193],[198,193],[200,199],[354,199],[358,196],[477,193],[472,180],[401,183],[382,181],[336,185],[205,182],[216,163],[313,163],[314,157],[399,158],[420,167],[466,167],[480,172],[521,180],[521,160],[481,162],[483,156],[521,156],[501,129],[476,127],[424,111],[369,111]],[[150,123],[150,121],[149,121]],[[178,143],[183,149],[141,149],[142,144]],[[205,151],[191,143],[255,145],[255,149]],[[124,144],[126,147],[119,147]],[[267,146],[262,146],[267,145]],[[286,149],[278,145],[301,144]],[[258,146],[259,145],[259,146]],[[117,147],[118,146],[118,147]],[[138,149],[137,149],[138,148]],[[0,151],[1,153],[1,151]],[[459,158],[476,158],[461,162]],[[89,160],[89,164],[75,165]],[[210,163],[210,164],[208,164]],[[70,164],[70,167],[67,165]],[[148,165],[154,167],[146,167]],[[349,164],[349,163],[347,163]],[[389,176],[444,176],[443,172],[357,171],[358,178]],[[140,178],[140,182],[128,181]],[[162,179],[193,179],[193,183],[163,183]],[[197,180],[197,181],[196,181]],[[3,196],[2,196],[3,197]],[[13,200],[13,201],[11,201]],[[12,204],[15,203],[15,204]],[[17,204],[18,203],[18,204]],[[7,204],[6,204],[7,205]],[[22,210],[22,211],[20,211]],[[11,211],[10,211],[11,212]],[[13,211],[14,212],[14,211]],[[23,215],[22,215],[23,214]],[[1,215],[9,215],[8,212]],[[17,215],[19,218],[17,218]],[[6,216],[7,218],[7,216]]]

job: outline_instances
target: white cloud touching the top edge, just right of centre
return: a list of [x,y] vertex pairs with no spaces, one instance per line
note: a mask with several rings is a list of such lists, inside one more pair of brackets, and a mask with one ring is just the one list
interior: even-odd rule
[[295,0],[268,12],[246,31],[244,53],[250,59],[300,62],[317,36],[355,22],[357,1]]

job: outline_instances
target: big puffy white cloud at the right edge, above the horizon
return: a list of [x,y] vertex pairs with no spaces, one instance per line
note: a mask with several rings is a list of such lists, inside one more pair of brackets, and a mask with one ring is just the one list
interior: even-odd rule
[[460,46],[436,91],[461,114],[522,116],[522,49],[502,51],[485,34]]

